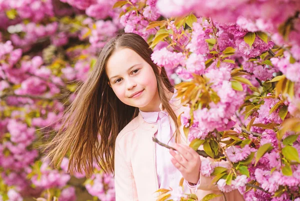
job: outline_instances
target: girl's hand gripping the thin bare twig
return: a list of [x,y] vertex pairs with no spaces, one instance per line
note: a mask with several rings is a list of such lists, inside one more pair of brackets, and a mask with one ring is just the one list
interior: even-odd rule
[[178,154],[172,149],[169,150],[173,157],[172,164],[180,171],[184,180],[196,184],[200,177],[201,166],[198,153],[186,145],[175,144],[173,148],[178,151]]

